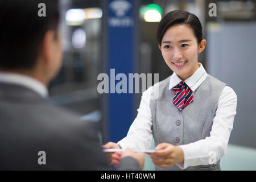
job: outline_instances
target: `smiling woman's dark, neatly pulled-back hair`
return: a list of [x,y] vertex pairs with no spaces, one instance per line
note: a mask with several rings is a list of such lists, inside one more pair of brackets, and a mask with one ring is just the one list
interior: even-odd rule
[[158,33],[156,39],[161,46],[163,35],[168,28],[176,24],[188,24],[196,36],[197,42],[200,43],[203,38],[203,28],[200,20],[196,15],[189,13],[188,11],[175,10],[164,15],[163,19],[158,25]]

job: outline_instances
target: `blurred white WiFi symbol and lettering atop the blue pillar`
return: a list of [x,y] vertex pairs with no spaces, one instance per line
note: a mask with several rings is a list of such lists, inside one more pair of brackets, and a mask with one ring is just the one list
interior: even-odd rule
[[134,19],[132,4],[127,0],[115,0],[109,3],[109,26],[110,27],[133,27]]

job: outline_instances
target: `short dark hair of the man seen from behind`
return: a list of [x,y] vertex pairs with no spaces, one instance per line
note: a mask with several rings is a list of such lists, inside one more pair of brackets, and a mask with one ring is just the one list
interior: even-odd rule
[[[46,16],[39,17],[39,3]],[[48,30],[57,31],[57,0],[0,0],[0,69],[30,69]]]

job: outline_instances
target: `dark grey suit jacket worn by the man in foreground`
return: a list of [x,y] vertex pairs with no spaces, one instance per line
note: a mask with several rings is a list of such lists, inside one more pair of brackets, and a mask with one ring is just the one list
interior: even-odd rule
[[[39,151],[46,165],[39,165]],[[42,161],[42,160],[40,160]],[[93,123],[23,86],[0,83],[1,170],[109,170]],[[139,170],[124,158],[120,170]]]

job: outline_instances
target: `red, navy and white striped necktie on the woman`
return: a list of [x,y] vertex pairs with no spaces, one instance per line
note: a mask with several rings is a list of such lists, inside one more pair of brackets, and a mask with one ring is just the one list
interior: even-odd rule
[[179,111],[193,101],[192,90],[184,81],[181,81],[172,90],[174,91],[174,100],[172,102]]

